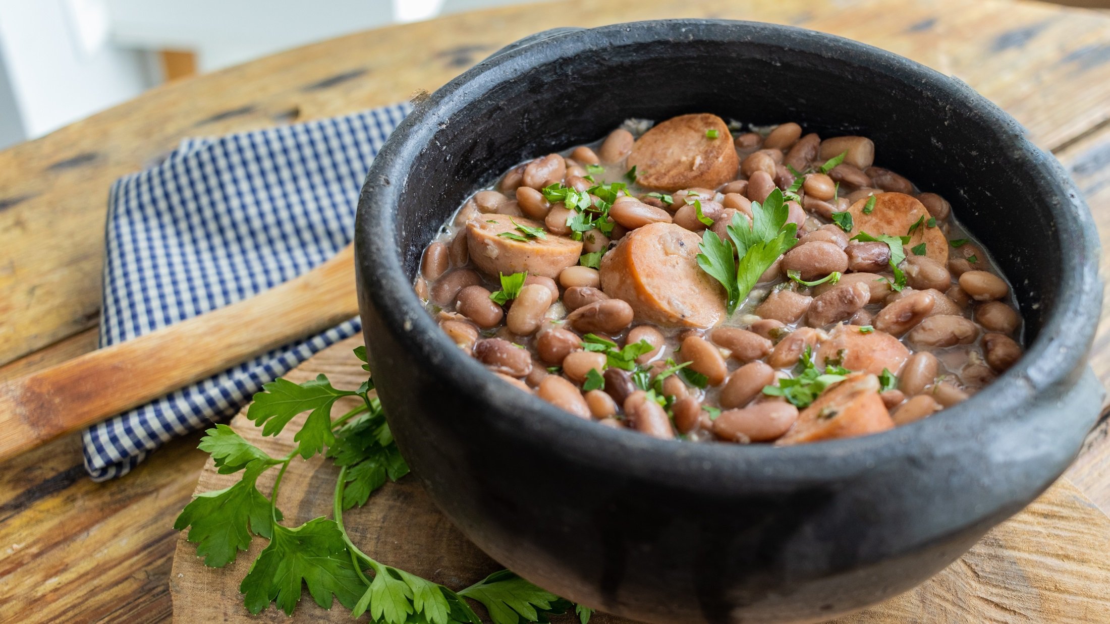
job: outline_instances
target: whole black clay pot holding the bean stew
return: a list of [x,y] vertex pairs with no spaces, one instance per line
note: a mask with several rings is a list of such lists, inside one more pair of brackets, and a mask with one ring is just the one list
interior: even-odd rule
[[[466,195],[629,117],[713,112],[858,133],[952,202],[1013,283],[1028,353],[956,407],[804,446],[663,442],[509,388],[412,290]],[[676,20],[544,33],[420,103],[362,192],[370,361],[404,456],[491,556],[569,600],[657,623],[817,621],[925,581],[1074,457],[1101,388],[1088,209],[1020,125],[963,83],[828,34]]]

